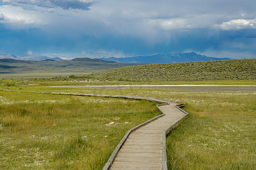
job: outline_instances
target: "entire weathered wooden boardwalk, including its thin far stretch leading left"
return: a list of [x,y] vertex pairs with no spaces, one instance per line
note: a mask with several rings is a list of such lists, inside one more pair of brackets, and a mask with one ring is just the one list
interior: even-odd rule
[[[3,89],[2,89],[3,90]],[[4,90],[13,91],[13,90]],[[15,91],[29,92],[29,91]],[[162,112],[127,131],[113,151],[103,170],[108,169],[163,169],[167,170],[166,135],[174,129],[187,112],[180,109],[183,103],[155,97],[138,97],[125,95],[75,94],[64,92],[33,92],[39,94],[114,97],[124,99],[148,100],[164,103],[156,105]]]

